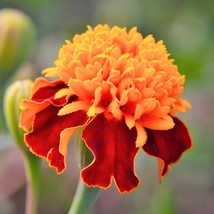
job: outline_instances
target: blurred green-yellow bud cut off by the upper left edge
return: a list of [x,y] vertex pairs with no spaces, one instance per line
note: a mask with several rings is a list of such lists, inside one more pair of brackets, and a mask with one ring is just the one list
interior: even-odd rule
[[0,75],[5,77],[29,57],[36,30],[27,15],[8,8],[0,10],[0,29]]

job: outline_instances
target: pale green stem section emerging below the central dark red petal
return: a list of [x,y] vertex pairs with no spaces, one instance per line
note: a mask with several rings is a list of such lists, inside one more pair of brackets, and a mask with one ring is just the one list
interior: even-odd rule
[[68,214],[88,214],[100,191],[97,187],[87,187],[80,179]]

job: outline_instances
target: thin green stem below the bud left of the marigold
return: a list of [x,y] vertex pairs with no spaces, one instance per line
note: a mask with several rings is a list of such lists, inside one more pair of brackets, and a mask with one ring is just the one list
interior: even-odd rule
[[25,214],[36,214],[38,211],[41,175],[40,160],[33,154],[29,153],[25,155],[25,166],[27,179]]

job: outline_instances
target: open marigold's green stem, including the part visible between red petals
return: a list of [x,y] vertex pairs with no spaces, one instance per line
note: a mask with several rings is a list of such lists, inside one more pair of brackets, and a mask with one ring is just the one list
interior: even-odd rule
[[[81,138],[82,130],[82,128],[79,128],[74,136],[76,152],[81,169],[86,167],[93,160],[91,151],[86,147],[85,142]],[[88,214],[100,192],[101,189],[98,187],[87,187],[80,178],[68,214]]]

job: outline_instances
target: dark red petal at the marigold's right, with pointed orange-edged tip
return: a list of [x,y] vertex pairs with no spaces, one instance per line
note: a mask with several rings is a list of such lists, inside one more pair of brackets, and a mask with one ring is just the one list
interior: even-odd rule
[[147,129],[147,142],[143,146],[149,155],[158,158],[159,180],[168,170],[170,164],[175,163],[182,153],[192,145],[187,127],[182,121],[174,117],[175,126],[166,131]]

